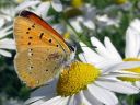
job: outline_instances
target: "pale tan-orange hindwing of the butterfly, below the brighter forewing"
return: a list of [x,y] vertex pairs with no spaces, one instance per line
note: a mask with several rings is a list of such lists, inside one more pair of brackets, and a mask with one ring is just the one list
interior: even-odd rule
[[55,77],[65,59],[63,51],[55,49],[54,46],[34,47],[18,54],[14,65],[21,80],[28,86],[36,88]]

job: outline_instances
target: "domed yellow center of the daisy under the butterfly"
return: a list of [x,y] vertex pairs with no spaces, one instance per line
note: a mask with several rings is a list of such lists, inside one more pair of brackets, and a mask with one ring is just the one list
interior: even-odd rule
[[60,74],[57,93],[61,96],[79,93],[85,90],[88,84],[93,83],[100,73],[100,69],[94,66],[75,61]]

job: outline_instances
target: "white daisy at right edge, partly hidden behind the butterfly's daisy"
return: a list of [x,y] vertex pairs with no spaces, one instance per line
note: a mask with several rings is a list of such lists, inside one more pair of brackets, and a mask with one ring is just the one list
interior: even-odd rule
[[[115,46],[112,44],[108,37],[105,37],[104,45],[95,37],[92,37],[93,46],[96,46],[94,51],[94,56],[88,55],[84,52],[84,57],[89,58],[89,63],[95,63],[95,66],[103,67],[108,66],[108,63],[115,65],[122,61],[140,61],[140,20],[136,19],[130,23],[126,32],[126,49],[125,49],[125,58],[122,58]],[[82,45],[85,46],[85,45]],[[95,57],[98,59],[93,59]],[[90,59],[91,58],[91,59]],[[82,59],[84,59],[82,57]],[[138,68],[131,68],[121,70],[121,72],[131,72],[131,73],[139,73],[140,74],[140,66]],[[140,78],[129,78],[129,77],[119,77],[120,80],[128,81],[128,82],[136,82],[136,84],[140,88]]]

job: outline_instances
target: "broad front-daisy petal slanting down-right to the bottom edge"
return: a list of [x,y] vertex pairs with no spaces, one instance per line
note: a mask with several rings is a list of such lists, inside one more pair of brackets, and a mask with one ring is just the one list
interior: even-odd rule
[[88,85],[88,89],[91,92],[91,94],[95,96],[95,98],[97,98],[106,105],[116,105],[118,103],[118,100],[113,92],[109,92],[94,84]]

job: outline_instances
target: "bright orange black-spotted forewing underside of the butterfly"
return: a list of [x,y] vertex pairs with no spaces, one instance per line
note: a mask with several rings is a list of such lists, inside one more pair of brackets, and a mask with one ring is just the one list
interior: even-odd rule
[[14,37],[18,51],[24,50],[32,46],[55,46],[61,47],[63,50],[62,44],[58,37],[55,37],[51,32],[25,18],[15,19]]

